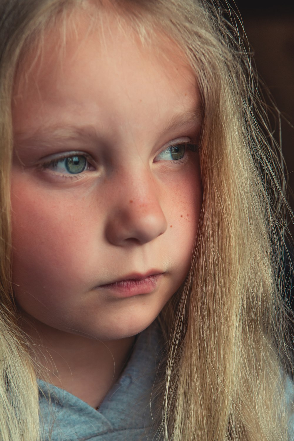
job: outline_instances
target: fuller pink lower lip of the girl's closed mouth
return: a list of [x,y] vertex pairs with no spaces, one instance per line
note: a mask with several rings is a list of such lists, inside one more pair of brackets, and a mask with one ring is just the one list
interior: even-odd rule
[[97,288],[107,289],[117,297],[132,297],[133,295],[149,294],[157,288],[162,276],[163,273],[154,274],[141,280],[122,280],[121,282],[110,283],[108,285],[100,285]]

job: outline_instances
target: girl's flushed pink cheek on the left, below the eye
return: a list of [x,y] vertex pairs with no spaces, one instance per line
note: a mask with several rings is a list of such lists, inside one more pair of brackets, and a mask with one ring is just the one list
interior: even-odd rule
[[86,207],[77,210],[71,200],[59,200],[57,192],[44,197],[17,183],[11,188],[11,202],[14,283],[28,292],[49,286],[66,292],[69,285],[82,283],[89,258],[84,258],[89,243],[89,229],[83,224]]

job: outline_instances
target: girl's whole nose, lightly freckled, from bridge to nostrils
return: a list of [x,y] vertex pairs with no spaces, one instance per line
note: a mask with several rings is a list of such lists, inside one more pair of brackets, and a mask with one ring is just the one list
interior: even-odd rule
[[[113,188],[113,187],[112,187]],[[145,173],[119,179],[119,191],[108,213],[106,236],[116,246],[144,244],[163,234],[167,221],[160,206],[159,188]]]

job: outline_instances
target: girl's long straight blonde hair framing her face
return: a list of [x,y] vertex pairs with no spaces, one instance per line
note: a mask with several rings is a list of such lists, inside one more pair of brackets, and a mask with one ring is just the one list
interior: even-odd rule
[[0,439],[39,439],[34,360],[11,285],[13,79],[33,41],[75,7],[97,10],[94,24],[101,8],[112,9],[143,44],[153,44],[160,30],[185,53],[201,91],[203,206],[192,268],[159,317],[165,357],[153,391],[158,439],[286,441],[293,362],[283,246],[287,211],[293,213],[284,160],[238,30],[206,0],[1,2]]

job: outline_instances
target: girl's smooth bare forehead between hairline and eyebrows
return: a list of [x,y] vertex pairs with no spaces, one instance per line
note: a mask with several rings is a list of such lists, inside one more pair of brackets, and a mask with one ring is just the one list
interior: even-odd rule
[[172,100],[176,112],[192,109],[198,98],[195,75],[174,41],[157,31],[142,44],[129,23],[114,15],[104,13],[93,25],[76,13],[65,27],[57,23],[48,30],[40,49],[27,54],[15,79],[13,116],[20,132],[35,130],[44,117],[54,120],[53,109],[65,119],[85,107],[99,115],[97,97],[122,114],[128,98],[142,102],[143,113],[151,101],[167,107]]

